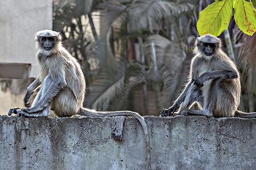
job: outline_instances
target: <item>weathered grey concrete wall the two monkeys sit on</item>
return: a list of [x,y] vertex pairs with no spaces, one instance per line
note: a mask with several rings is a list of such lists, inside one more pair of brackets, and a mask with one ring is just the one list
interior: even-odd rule
[[[145,117],[152,169],[255,169],[256,119]],[[0,169],[144,169],[143,131],[126,118],[124,139],[113,118],[0,116]]]

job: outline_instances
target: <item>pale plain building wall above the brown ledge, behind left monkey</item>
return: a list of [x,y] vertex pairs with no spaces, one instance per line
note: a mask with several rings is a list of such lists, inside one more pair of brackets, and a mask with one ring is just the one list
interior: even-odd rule
[[35,32],[51,28],[52,0],[0,1],[0,63],[27,63],[28,76],[37,77]]

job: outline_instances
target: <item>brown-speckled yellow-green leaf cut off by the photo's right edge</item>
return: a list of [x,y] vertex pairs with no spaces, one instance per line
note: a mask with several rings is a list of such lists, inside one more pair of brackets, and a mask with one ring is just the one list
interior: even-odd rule
[[234,19],[243,33],[252,36],[256,31],[256,11],[251,2],[234,1]]

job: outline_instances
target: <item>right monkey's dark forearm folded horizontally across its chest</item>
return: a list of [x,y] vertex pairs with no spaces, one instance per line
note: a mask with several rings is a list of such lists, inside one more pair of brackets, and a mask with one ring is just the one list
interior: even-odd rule
[[206,72],[199,76],[194,82],[194,84],[201,88],[204,86],[204,82],[209,79],[235,79],[238,78],[237,71],[234,70],[214,70],[210,72]]

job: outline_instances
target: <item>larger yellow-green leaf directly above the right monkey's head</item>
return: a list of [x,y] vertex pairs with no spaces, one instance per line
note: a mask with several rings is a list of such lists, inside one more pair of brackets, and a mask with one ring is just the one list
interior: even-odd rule
[[229,26],[233,14],[233,0],[216,1],[199,14],[197,31],[200,36],[210,33],[219,36]]

